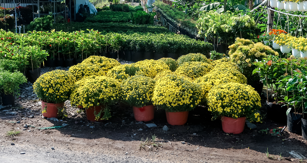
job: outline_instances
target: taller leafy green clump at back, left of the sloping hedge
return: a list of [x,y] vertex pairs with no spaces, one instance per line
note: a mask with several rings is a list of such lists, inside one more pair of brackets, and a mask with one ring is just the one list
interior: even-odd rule
[[151,24],[153,25],[154,16],[157,13],[146,13],[146,11],[137,11],[136,13],[131,13],[132,23],[134,24]]

